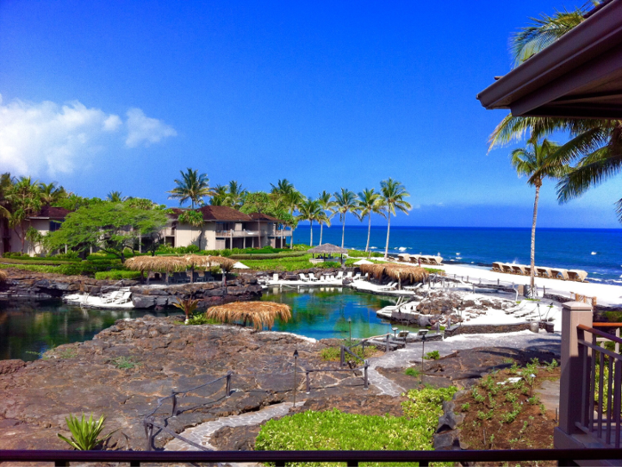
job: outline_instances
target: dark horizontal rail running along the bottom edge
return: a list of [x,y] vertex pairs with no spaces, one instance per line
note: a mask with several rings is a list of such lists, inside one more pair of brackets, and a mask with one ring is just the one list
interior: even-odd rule
[[498,451],[0,451],[0,463],[48,462],[57,467],[69,463],[520,463],[599,461],[622,458],[622,449],[515,449]]

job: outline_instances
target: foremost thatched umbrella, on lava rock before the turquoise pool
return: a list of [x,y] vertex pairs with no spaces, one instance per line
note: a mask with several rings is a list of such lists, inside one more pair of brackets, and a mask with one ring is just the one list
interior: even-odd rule
[[289,321],[291,308],[284,303],[275,302],[233,302],[211,307],[205,315],[221,323],[242,322],[246,326],[246,323],[251,321],[255,329],[260,331],[264,326],[272,329],[275,318]]

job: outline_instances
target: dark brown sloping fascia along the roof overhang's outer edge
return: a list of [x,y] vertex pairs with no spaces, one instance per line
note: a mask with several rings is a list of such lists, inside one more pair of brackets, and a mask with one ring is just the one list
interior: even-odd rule
[[[613,0],[554,44],[477,94],[477,99],[486,109],[512,108],[514,116],[528,113],[530,109],[537,107],[534,102],[522,105],[514,111],[516,102],[570,70],[622,44],[622,23],[619,18],[622,18],[622,0]],[[553,100],[562,95],[562,90],[551,89],[549,94],[551,95],[547,99]]]

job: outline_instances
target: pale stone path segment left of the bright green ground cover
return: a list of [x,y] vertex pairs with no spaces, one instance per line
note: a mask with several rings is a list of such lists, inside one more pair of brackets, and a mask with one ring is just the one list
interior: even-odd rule
[[[302,401],[300,401],[302,402]],[[271,418],[277,416],[287,415],[290,408],[293,406],[291,402],[283,402],[281,404],[275,404],[269,406],[257,412],[247,412],[242,415],[231,415],[227,417],[219,418],[213,422],[206,422],[196,425],[193,428],[188,428],[185,431],[179,433],[184,438],[194,441],[196,444],[200,444],[212,451],[216,450],[216,447],[211,446],[211,435],[216,431],[219,431],[225,426],[235,427],[244,425],[258,425]],[[180,439],[172,439],[164,447],[166,451],[198,451],[196,447],[190,446]]]

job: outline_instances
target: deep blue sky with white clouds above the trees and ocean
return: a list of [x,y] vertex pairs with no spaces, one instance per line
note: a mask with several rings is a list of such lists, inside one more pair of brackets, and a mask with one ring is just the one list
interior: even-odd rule
[[[307,196],[392,176],[416,206],[397,225],[527,227],[512,147],[487,155],[505,113],[475,95],[512,31],[574,6],[4,0],[0,169],[169,204],[186,167]],[[618,228],[614,185],[559,206],[546,183],[538,225]]]

